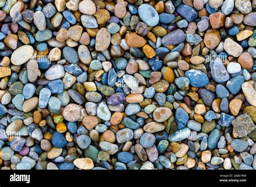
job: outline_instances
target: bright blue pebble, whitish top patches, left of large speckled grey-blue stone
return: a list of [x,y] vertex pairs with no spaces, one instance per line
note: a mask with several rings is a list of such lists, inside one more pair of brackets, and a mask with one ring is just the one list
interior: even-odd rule
[[191,69],[185,72],[185,77],[190,80],[192,87],[203,88],[209,84],[209,79],[203,71]]

